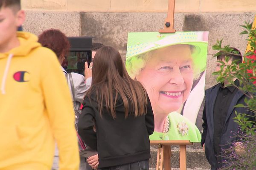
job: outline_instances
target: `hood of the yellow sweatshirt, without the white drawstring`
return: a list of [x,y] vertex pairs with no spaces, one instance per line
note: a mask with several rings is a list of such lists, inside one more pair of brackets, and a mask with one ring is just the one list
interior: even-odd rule
[[41,46],[41,44],[37,42],[38,37],[29,32],[17,31],[17,37],[20,41],[20,45],[6,53],[0,53],[0,59],[8,57],[9,55],[12,55],[12,57],[25,57],[34,48]]

